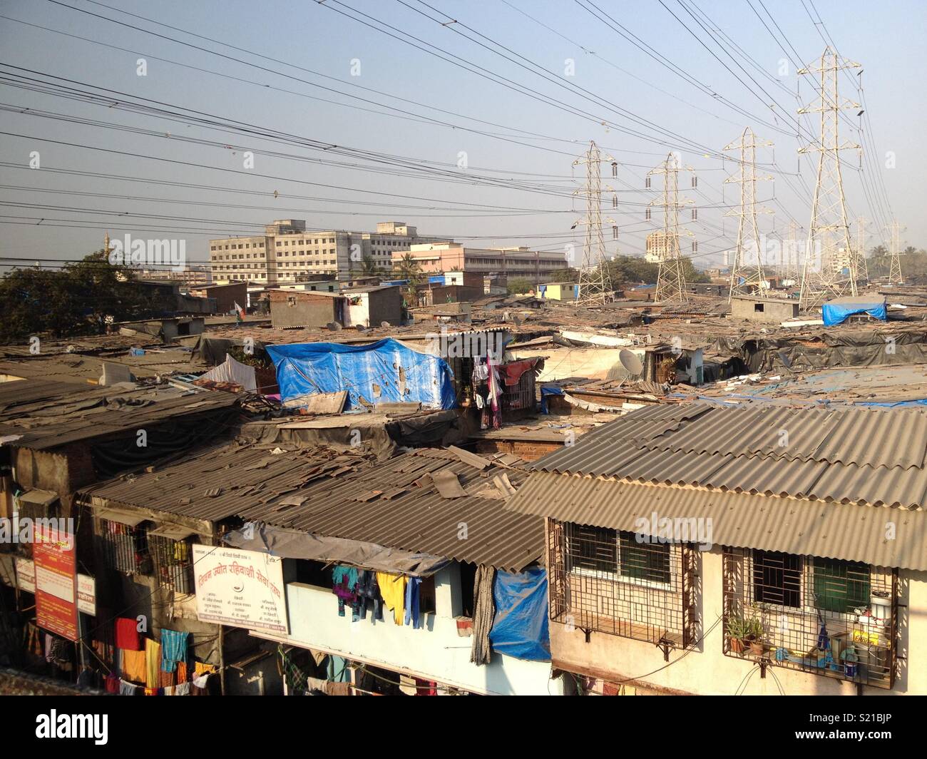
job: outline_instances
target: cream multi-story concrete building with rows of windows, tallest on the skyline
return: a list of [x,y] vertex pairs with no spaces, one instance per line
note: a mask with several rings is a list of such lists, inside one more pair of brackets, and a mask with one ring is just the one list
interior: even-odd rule
[[276,285],[310,275],[335,277],[360,272],[365,259],[388,271],[395,251],[408,251],[421,238],[405,222],[380,222],[376,232],[306,229],[299,219],[280,219],[264,228],[262,237],[210,240],[213,279]]

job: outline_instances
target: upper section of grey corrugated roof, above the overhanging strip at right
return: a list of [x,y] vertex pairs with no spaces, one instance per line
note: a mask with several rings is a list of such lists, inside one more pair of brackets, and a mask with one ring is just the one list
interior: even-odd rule
[[921,508],[920,408],[653,405],[591,431],[534,470],[721,491]]

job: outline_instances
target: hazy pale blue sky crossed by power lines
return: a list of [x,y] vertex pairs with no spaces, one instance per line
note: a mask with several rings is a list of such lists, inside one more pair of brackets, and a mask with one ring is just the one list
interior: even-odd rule
[[646,176],[674,151],[693,259],[718,264],[740,198],[720,156],[746,126],[773,143],[761,232],[809,223],[817,154],[798,150],[819,117],[796,111],[818,93],[796,70],[826,44],[861,64],[838,74],[840,143],[864,147],[841,152],[848,216],[869,248],[893,218],[920,248],[925,17],[907,0],[7,0],[0,264],[56,267],[106,232],[204,262],[210,238],[284,218],[578,263],[590,140],[608,255],[642,255],[662,225]]

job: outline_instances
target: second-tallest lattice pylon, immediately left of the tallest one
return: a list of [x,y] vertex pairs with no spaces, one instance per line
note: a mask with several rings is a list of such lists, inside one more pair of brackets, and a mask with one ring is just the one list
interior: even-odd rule
[[[754,131],[748,126],[743,130],[740,142],[731,142],[725,150],[740,150],[740,171],[729,176],[724,183],[737,183],[741,186],[741,204],[737,210],[731,209],[725,216],[739,216],[737,225],[737,247],[734,248],[734,263],[730,267],[730,290],[728,302],[735,295],[748,295],[756,289],[763,293],[766,276],[763,272],[763,247],[760,244],[759,227],[756,225],[757,213],[772,213],[756,205],[756,182],[771,181],[772,176],[756,176],[756,148],[768,148],[768,140],[756,141]],[[747,259],[752,259],[749,264]],[[781,263],[781,262],[780,262]]]

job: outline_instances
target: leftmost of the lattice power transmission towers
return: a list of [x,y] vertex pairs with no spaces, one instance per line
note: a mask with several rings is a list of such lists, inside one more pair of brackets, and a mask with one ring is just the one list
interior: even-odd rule
[[[576,225],[586,226],[586,241],[583,245],[583,262],[579,267],[580,302],[606,302],[614,291],[608,272],[608,256],[605,253],[605,239],[602,233],[602,163],[612,164],[616,174],[617,163],[611,156],[602,157],[596,144],[590,141],[583,158],[573,161],[574,166],[585,164],[586,186],[574,195],[586,196],[586,215]],[[617,230],[614,219],[607,219]],[[574,225],[574,226],[576,226]]]

